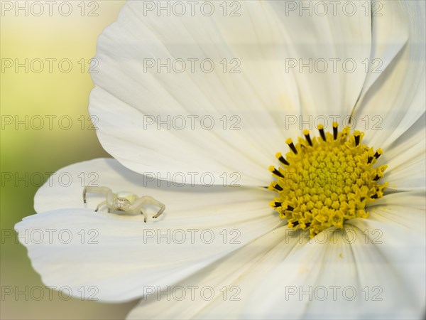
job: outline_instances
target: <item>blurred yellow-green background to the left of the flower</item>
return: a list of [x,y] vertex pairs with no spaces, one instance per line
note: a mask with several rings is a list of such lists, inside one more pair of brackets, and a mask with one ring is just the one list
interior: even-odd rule
[[[48,292],[33,299],[31,288],[44,285],[25,247],[9,238],[13,225],[34,213],[41,176],[46,181],[48,172],[108,156],[90,129],[89,67],[96,67],[89,61],[123,4],[0,1],[1,319],[123,319],[136,303],[65,301]],[[10,288],[28,294],[4,294]]]

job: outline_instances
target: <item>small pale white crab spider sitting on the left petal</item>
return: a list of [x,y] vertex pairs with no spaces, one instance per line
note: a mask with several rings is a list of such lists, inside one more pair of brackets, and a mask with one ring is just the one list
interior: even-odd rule
[[108,212],[109,210],[116,210],[116,211],[124,211],[124,212],[136,212],[138,210],[141,210],[141,213],[143,215],[143,221],[146,222],[147,215],[146,212],[143,210],[143,206],[146,204],[157,206],[160,208],[158,210],[158,213],[153,215],[153,218],[158,218],[161,213],[165,210],[165,206],[163,203],[160,203],[160,201],[155,200],[151,196],[141,196],[139,198],[133,193],[129,192],[119,192],[119,193],[113,193],[110,188],[108,187],[90,187],[85,186],[83,189],[83,201],[86,203],[86,193],[101,193],[106,195],[106,200],[99,203],[95,209],[95,211],[99,210],[102,206],[107,206]]

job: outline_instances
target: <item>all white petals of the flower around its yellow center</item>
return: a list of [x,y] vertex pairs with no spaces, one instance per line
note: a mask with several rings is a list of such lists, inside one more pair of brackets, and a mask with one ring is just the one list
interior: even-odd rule
[[[353,15],[320,16],[290,11],[290,3],[302,5],[246,1],[240,16],[158,16],[143,1],[124,6],[99,37],[89,111],[104,148],[132,171],[96,159],[54,175],[71,177],[69,186],[53,178],[40,188],[38,214],[16,228],[45,284],[86,299],[142,298],[129,314],[135,319],[424,315],[425,4],[376,2],[381,16],[371,16],[377,6],[351,2]],[[167,59],[178,63],[170,73],[157,69]],[[215,68],[192,72],[188,59],[212,59]],[[356,68],[299,72],[309,59]],[[178,73],[182,60],[187,70]],[[231,61],[241,73],[227,72]],[[376,63],[381,73],[366,73]],[[287,137],[301,135],[300,115],[331,124],[354,105],[364,143],[384,151],[388,193],[370,204],[369,218],[310,240],[268,208],[266,169]],[[182,118],[185,127],[173,122]],[[215,186],[192,186],[202,174]],[[241,187],[222,186],[231,174]],[[89,183],[153,196],[165,213],[148,223],[94,213],[103,199],[84,206]]]

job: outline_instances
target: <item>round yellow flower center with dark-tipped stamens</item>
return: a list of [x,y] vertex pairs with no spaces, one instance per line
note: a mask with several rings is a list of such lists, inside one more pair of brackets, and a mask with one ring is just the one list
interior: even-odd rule
[[378,183],[388,166],[373,168],[382,149],[361,144],[364,132],[337,127],[333,122],[331,134],[320,124],[321,137],[313,139],[305,129],[305,139],[299,137],[297,144],[287,139],[286,159],[278,152],[281,166],[269,167],[277,179],[269,189],[278,193],[271,206],[289,228],[308,229],[311,238],[332,226],[343,228],[345,220],[368,218],[366,205],[383,197],[388,186]]

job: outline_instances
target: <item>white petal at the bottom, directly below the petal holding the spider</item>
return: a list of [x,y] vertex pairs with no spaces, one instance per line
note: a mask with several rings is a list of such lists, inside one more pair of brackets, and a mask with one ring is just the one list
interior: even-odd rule
[[264,272],[300,246],[297,238],[285,240],[286,230],[277,228],[176,286],[161,288],[169,293],[141,300],[129,319],[238,318]]

